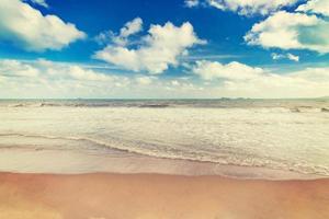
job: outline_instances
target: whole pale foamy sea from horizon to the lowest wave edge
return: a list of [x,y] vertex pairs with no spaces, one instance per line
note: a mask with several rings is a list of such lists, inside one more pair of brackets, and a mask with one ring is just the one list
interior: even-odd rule
[[329,100],[2,100],[1,148],[117,149],[329,176]]

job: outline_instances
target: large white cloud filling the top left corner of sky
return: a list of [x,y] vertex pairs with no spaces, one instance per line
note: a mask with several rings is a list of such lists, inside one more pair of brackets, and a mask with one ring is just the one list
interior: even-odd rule
[[26,50],[59,50],[86,34],[56,15],[43,15],[20,0],[0,1],[0,39]]

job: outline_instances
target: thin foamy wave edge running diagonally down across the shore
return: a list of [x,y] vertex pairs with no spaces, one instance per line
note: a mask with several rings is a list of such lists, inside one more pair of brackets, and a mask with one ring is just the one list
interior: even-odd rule
[[[287,164],[284,161],[275,161],[271,160],[271,158],[261,158],[263,161],[251,161],[246,162],[249,159],[248,154],[245,154],[243,158],[232,157],[231,159],[218,159],[216,155],[200,155],[197,151],[190,152],[188,154],[183,153],[182,151],[168,151],[164,150],[161,152],[161,147],[158,149],[147,149],[141,147],[132,147],[133,145],[139,145],[138,142],[135,143],[122,143],[120,140],[114,140],[113,142],[109,142],[101,139],[90,138],[90,137],[58,137],[58,136],[50,136],[50,135],[30,135],[30,134],[0,134],[0,137],[24,137],[24,138],[43,138],[43,139],[59,139],[59,140],[73,140],[73,141],[84,141],[94,145],[97,148],[103,149],[111,149],[117,150],[122,152],[133,153],[136,155],[148,155],[154,158],[160,159],[173,159],[173,160],[189,160],[189,161],[196,161],[196,162],[212,162],[217,164],[224,165],[237,165],[237,166],[246,166],[246,168],[266,168],[272,170],[281,170],[281,171],[292,171],[295,173],[300,174],[311,174],[318,176],[329,176],[329,168],[320,166],[320,165],[306,165],[303,163],[291,163]],[[193,155],[191,155],[193,154]],[[241,154],[243,157],[243,154]],[[254,155],[252,155],[256,159]]]

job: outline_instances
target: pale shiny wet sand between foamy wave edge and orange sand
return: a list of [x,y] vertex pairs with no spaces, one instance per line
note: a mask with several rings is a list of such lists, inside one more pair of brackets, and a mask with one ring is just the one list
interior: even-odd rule
[[140,155],[118,150],[56,150],[1,148],[0,172],[34,174],[166,174],[222,176],[234,180],[311,181],[329,178],[318,174],[260,166],[218,164],[183,159]]

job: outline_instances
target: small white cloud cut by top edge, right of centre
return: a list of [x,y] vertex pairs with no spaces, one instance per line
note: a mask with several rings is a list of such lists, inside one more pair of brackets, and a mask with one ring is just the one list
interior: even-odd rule
[[298,0],[207,0],[207,3],[223,11],[234,11],[241,15],[266,15]]

